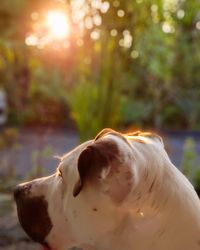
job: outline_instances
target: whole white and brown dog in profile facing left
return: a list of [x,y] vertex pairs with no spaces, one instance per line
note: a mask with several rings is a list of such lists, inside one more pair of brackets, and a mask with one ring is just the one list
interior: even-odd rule
[[104,129],[14,196],[46,249],[200,250],[200,201],[155,134]]

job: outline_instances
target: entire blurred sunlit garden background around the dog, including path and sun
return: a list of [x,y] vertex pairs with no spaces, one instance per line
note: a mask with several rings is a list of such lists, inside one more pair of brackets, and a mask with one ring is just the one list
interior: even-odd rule
[[1,0],[0,250],[39,249],[13,186],[105,127],[157,131],[200,190],[200,1]]

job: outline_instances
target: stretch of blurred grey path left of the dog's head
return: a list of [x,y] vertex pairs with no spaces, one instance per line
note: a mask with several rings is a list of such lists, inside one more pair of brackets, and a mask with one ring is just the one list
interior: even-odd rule
[[59,162],[55,156],[61,156],[79,143],[74,132],[43,131],[43,133],[21,131],[19,144],[14,148],[0,151],[0,174],[15,168],[16,174],[26,177],[31,169],[40,164],[47,174],[53,173]]

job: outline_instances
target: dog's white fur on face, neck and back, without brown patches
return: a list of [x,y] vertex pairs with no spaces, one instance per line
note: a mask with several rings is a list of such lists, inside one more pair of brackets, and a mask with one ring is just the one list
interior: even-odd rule
[[[133,185],[123,201],[115,202],[112,192],[104,192],[105,186],[112,189],[116,181],[125,181],[106,181],[107,172],[98,192],[87,185],[73,197],[78,157],[93,141],[62,158],[63,178],[53,175],[43,180],[53,223],[47,242],[55,250],[72,246],[84,250],[200,250],[200,202],[192,185],[173,166],[161,141],[146,136],[125,138],[127,143],[116,135],[100,139],[116,143],[121,162],[132,173]],[[124,188],[121,184],[119,192]]]

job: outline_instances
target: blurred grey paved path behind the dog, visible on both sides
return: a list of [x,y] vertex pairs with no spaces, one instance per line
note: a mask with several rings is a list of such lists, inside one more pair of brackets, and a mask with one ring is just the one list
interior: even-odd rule
[[[200,156],[200,133],[165,133],[164,142],[172,162],[180,167],[183,145],[186,138],[192,137],[196,141],[196,150]],[[34,165],[40,164],[45,173],[53,173],[59,160],[54,156],[61,156],[79,144],[75,132],[66,131],[21,131],[19,146],[0,151],[0,174],[13,171],[26,178]],[[3,163],[3,164],[2,164]]]

